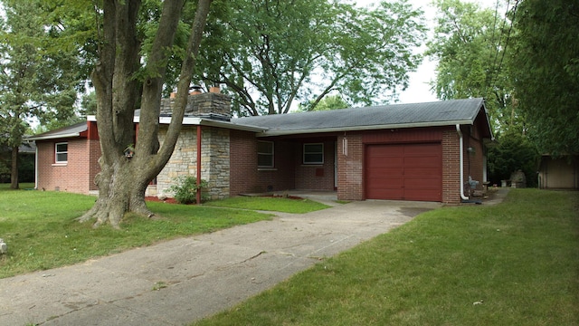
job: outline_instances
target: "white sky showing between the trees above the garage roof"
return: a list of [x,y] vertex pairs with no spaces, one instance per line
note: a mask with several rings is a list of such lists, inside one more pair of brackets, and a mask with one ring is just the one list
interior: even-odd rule
[[[462,0],[478,3],[482,7],[495,8],[497,0]],[[373,5],[378,4],[379,0],[355,0],[357,5]],[[431,0],[409,0],[415,8],[421,8],[426,18],[426,24],[433,29],[435,9],[432,7]],[[501,13],[504,14],[504,13]],[[419,53],[425,50],[425,46],[417,49]],[[429,82],[434,80],[436,62],[430,61],[428,58],[422,60],[422,64],[418,67],[416,72],[410,72],[410,82],[406,91],[399,95],[399,103],[418,103],[425,101],[438,101],[434,93],[430,90]]]

